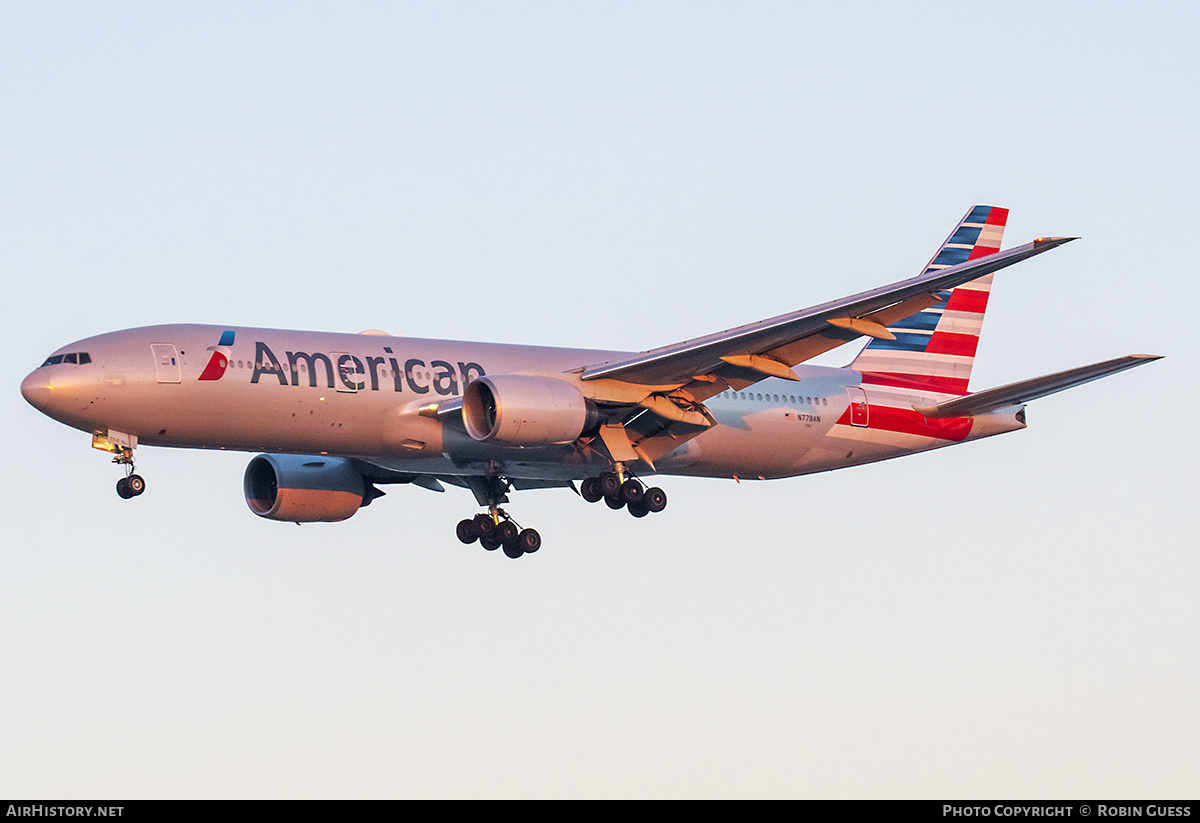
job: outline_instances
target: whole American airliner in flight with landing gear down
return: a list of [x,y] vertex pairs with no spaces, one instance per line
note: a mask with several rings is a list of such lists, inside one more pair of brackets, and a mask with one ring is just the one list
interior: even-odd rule
[[[1001,251],[1008,210],[973,206],[919,275],[647,352],[605,352],[214,325],[156,325],[54,352],[22,383],[91,434],[145,491],[139,445],[258,451],[242,487],[275,521],[337,522],[379,486],[469,489],[456,535],[511,558],[540,534],[509,493],[572,488],[635,517],[656,476],[778,479],[1021,429],[1028,401],[1157,355],[972,392],[996,271],[1076,238]],[[865,337],[845,367],[806,365]]]

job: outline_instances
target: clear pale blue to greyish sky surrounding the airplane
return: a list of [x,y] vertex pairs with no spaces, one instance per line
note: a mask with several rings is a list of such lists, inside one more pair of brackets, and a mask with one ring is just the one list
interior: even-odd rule
[[[0,795],[1195,798],[1192,2],[7,2]],[[1030,428],[635,521],[146,493],[20,379],[214,323],[644,349],[1006,246]],[[857,347],[828,355],[844,364]]]

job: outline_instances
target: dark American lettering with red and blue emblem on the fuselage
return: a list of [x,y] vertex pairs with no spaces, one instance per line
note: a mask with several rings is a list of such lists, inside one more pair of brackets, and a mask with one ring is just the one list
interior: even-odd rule
[[[232,335],[233,332],[227,332]],[[224,341],[224,336],[221,337]],[[220,349],[220,347],[217,347]],[[214,354],[216,359],[216,354]],[[228,356],[226,356],[228,359]],[[284,366],[284,364],[287,364]],[[262,342],[254,342],[254,362],[251,383],[260,379],[276,378],[281,386],[299,386],[312,389],[325,388],[337,391],[412,391],[427,395],[457,396],[467,384],[484,376],[484,367],[476,362],[451,364],[448,360],[409,358],[400,361],[389,347],[383,347],[383,355],[359,358],[346,352],[284,352],[280,358]],[[212,361],[205,368],[205,374],[212,367]],[[222,373],[224,367],[222,366]],[[215,380],[217,377],[200,379]]]

